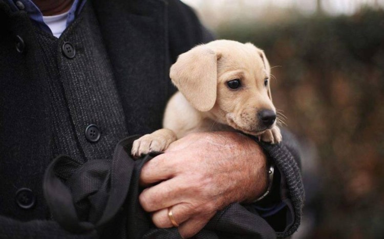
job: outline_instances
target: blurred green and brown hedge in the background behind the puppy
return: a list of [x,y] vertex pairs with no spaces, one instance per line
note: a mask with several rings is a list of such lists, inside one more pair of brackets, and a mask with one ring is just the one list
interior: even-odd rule
[[[384,12],[225,25],[272,66],[275,106],[312,140],[324,190],[314,238],[384,237]],[[305,159],[304,159],[305,160]]]

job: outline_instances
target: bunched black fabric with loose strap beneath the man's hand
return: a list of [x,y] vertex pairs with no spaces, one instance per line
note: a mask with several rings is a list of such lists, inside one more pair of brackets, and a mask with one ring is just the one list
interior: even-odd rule
[[[72,233],[97,230],[104,235],[105,225],[120,223],[125,233],[118,238],[181,238],[177,228],[157,228],[139,203],[144,189],[139,184],[141,169],[159,153],[134,160],[130,152],[137,138],[119,141],[111,160],[78,164],[65,155],[53,160],[45,174],[44,194],[53,219],[62,228]],[[73,173],[68,177],[68,172]],[[257,212],[233,203],[218,211],[194,238],[272,239],[276,233]]]

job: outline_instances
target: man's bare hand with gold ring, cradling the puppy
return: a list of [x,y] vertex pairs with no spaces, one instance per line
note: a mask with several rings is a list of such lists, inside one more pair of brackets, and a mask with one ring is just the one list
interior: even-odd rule
[[154,224],[173,227],[168,218],[168,207],[172,207],[180,234],[190,237],[216,211],[264,193],[266,157],[258,144],[242,134],[193,133],[147,162],[140,183],[158,183],[144,189],[139,198],[144,210],[153,212]]

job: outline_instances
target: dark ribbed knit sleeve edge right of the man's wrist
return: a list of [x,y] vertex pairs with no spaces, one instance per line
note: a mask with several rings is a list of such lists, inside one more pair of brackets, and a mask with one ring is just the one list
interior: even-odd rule
[[287,197],[293,205],[294,222],[284,232],[277,232],[278,237],[287,237],[295,232],[300,225],[304,203],[304,187],[301,176],[301,157],[295,137],[282,130],[283,141],[278,145],[260,142],[264,152],[271,162],[279,169],[285,178],[288,189]]

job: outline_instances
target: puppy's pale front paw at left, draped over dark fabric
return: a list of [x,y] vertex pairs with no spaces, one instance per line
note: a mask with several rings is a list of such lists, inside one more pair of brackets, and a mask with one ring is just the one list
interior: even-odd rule
[[169,129],[156,130],[133,142],[131,154],[139,157],[150,152],[163,152],[169,144],[177,139],[176,134]]

